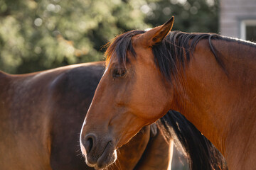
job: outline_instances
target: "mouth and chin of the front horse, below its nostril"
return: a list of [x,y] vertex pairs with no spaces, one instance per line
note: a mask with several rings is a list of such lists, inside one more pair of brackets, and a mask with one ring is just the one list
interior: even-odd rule
[[110,164],[114,163],[117,159],[117,152],[114,150],[114,147],[112,145],[112,142],[107,142],[107,145],[105,149],[103,150],[100,157],[97,159],[96,164],[90,164],[90,162],[87,162],[86,164],[88,166],[91,166],[95,169],[105,169],[107,166],[110,166]]

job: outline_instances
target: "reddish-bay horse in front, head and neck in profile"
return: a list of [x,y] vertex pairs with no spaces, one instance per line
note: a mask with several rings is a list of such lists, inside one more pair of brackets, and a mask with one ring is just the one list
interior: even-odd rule
[[[133,30],[110,42],[105,74],[82,126],[82,153],[92,165],[99,157],[110,164],[115,150],[142,127],[175,110],[213,142],[228,169],[252,169],[255,43],[171,31],[173,24],[174,17],[162,26]],[[169,122],[168,117],[165,120]]]

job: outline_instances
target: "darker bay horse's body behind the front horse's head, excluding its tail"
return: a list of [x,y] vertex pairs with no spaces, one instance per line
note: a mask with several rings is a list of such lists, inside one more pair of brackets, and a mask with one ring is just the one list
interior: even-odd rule
[[[93,169],[80,154],[79,132],[103,72],[104,62],[0,72],[0,169]],[[172,146],[146,126],[119,149],[110,169],[166,170]]]

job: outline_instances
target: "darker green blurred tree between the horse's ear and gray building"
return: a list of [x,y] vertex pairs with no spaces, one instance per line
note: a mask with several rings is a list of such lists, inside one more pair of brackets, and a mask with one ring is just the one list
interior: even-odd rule
[[218,0],[148,0],[142,6],[146,23],[159,26],[175,16],[173,30],[218,33]]

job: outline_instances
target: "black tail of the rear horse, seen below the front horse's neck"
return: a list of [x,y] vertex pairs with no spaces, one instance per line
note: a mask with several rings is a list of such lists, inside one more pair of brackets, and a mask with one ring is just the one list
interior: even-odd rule
[[190,169],[228,170],[223,155],[181,113],[169,111],[156,124],[164,137],[174,139],[176,147],[186,154]]

